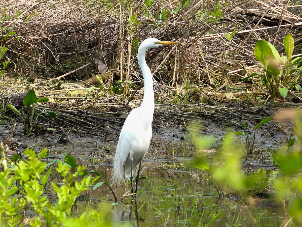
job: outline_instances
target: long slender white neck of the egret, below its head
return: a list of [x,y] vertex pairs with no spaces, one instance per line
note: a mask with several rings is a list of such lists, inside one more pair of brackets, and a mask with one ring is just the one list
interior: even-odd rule
[[144,98],[141,107],[146,108],[148,111],[150,111],[149,112],[150,115],[153,116],[153,112],[154,112],[153,78],[152,78],[151,71],[146,63],[146,59],[145,59],[146,51],[147,48],[139,48],[137,52],[137,61],[138,61],[138,65],[140,66],[143,72],[144,85],[145,85]]

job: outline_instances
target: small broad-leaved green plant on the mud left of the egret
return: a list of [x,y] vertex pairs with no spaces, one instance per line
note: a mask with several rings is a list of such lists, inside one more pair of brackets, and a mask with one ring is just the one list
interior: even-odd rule
[[[15,113],[17,114],[21,120],[24,122],[24,134],[28,135],[33,133],[33,131],[36,128],[36,123],[38,120],[38,117],[43,114],[47,113],[48,118],[54,118],[58,117],[57,114],[53,111],[47,110],[44,112],[41,112],[37,114],[36,118],[34,119],[34,113],[35,113],[35,106],[36,103],[43,103],[43,102],[48,102],[47,97],[40,97],[39,99],[37,98],[35,92],[33,89],[31,89],[26,96],[24,97],[23,104],[26,107],[26,114],[24,114],[22,111],[17,110],[13,105],[7,104],[7,106]],[[33,104],[33,108],[30,109],[30,106]],[[51,128],[48,128],[48,130],[52,130]]]

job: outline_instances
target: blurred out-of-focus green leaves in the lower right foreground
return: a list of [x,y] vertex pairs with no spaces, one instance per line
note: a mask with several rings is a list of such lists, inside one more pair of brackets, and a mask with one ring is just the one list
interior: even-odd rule
[[288,144],[270,151],[272,154],[267,154],[266,151],[263,155],[260,154],[261,158],[257,156],[259,162],[261,159],[272,158],[275,167],[253,167],[244,171],[243,163],[247,157],[245,143],[238,140],[233,132],[224,136],[222,146],[216,149],[209,160],[206,149],[215,144],[214,138],[200,135],[197,130],[200,126],[196,123],[190,128],[191,140],[197,149],[191,165],[206,171],[221,195],[236,194],[246,201],[258,192],[271,192],[271,201],[284,207],[284,215],[288,220],[294,217],[302,225],[302,115],[297,110],[286,110],[279,115],[281,116],[275,117],[275,120],[294,122],[294,137],[291,137]]

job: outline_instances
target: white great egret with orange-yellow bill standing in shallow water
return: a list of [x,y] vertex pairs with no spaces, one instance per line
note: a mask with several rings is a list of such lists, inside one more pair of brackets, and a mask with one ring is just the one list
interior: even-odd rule
[[[137,60],[144,77],[144,98],[140,107],[130,112],[120,132],[111,178],[112,185],[118,185],[122,180],[130,180],[132,194],[133,170],[137,169],[138,164],[141,165],[141,161],[149,149],[152,136],[154,90],[152,74],[145,59],[146,51],[150,48],[171,44],[179,44],[179,42],[147,38],[138,48]],[[140,175],[140,165],[138,167],[137,178]]]

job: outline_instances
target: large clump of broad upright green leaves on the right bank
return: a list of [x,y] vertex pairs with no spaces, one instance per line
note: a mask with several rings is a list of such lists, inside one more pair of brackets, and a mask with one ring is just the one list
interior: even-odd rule
[[[250,77],[259,76],[263,85],[270,91],[272,99],[278,95],[283,98],[287,97],[288,90],[296,88],[297,80],[301,75],[302,57],[292,58],[294,51],[294,39],[288,34],[284,38],[284,49],[286,57],[280,57],[276,48],[265,40],[259,40],[255,45],[255,58],[264,67],[264,74],[252,73],[243,80]],[[280,68],[282,68],[280,70]]]

